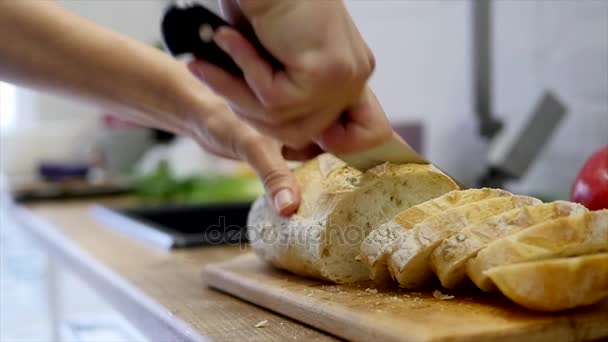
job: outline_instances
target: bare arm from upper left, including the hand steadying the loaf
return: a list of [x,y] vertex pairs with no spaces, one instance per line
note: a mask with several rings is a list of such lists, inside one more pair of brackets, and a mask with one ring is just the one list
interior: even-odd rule
[[281,144],[239,120],[225,101],[157,49],[51,1],[0,0],[0,79],[84,98],[139,123],[189,135],[210,152],[249,162],[282,214],[299,190]]

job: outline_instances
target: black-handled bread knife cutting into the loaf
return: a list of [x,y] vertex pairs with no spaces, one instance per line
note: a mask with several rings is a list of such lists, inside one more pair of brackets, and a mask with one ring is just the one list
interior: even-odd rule
[[[163,16],[162,35],[165,47],[173,56],[192,54],[226,72],[243,77],[242,70],[232,58],[213,41],[215,31],[222,26],[233,27],[201,4],[171,3]],[[275,70],[283,65],[274,58],[255,37],[250,28],[237,28],[256,47]],[[347,119],[347,113],[342,115]],[[336,157],[359,170],[365,171],[384,162],[396,164],[428,164],[410,145],[396,133],[386,143],[364,151],[348,154],[336,154]]]

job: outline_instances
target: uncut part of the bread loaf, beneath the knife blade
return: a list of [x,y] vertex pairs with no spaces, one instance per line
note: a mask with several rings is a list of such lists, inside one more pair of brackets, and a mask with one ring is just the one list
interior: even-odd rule
[[458,186],[432,165],[385,163],[365,173],[323,154],[294,170],[302,202],[289,218],[265,198],[253,204],[253,250],[293,273],[349,283],[369,279],[356,259],[367,234],[400,211]]

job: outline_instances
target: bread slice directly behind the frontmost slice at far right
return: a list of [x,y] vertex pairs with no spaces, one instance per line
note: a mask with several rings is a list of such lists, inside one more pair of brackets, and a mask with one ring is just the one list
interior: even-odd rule
[[490,268],[526,261],[608,251],[608,209],[539,223],[498,239],[479,251],[466,273],[480,289],[496,290]]

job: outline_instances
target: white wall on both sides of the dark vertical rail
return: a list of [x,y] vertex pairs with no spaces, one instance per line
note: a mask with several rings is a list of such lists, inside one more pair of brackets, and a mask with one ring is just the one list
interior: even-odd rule
[[[544,89],[569,108],[514,190],[565,196],[585,158],[608,143],[608,2],[494,1],[495,108],[523,120]],[[351,0],[377,58],[372,85],[394,122],[422,120],[427,156],[465,182],[485,143],[472,106],[470,1]]]

